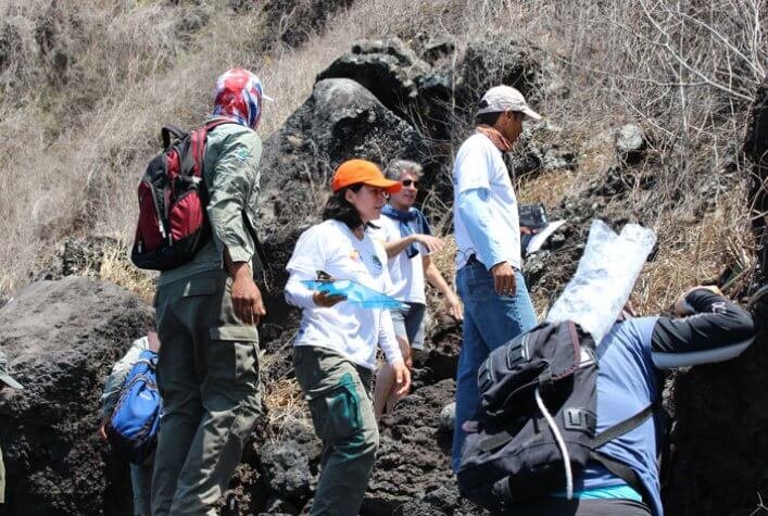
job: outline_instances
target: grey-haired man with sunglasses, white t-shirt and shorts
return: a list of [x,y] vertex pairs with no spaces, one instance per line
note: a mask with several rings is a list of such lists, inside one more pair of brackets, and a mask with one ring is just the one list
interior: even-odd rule
[[[381,210],[381,218],[376,221],[380,229],[374,231],[387,251],[389,275],[393,290],[390,295],[404,302],[408,307],[390,311],[394,333],[408,367],[413,365],[413,351],[424,349],[424,319],[427,310],[425,278],[444,297],[448,313],[461,320],[462,304],[453,289],[438,270],[430,254],[443,247],[443,241],[435,236],[424,213],[417,207],[416,196],[421,166],[407,160],[390,163],[385,175],[387,179],[400,181],[402,188],[390,193],[389,202]],[[374,406],[379,418],[385,408],[391,410],[396,401],[393,389],[394,372],[385,365],[376,378]]]

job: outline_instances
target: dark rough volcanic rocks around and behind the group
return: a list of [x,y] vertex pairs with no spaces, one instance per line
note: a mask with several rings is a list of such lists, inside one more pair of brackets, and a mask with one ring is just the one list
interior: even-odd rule
[[[426,189],[450,205],[451,151],[471,129],[471,100],[478,91],[511,84],[533,103],[540,91],[567,95],[537,49],[514,40],[480,37],[455,55],[450,41],[425,38],[416,47],[398,39],[356,43],[317,77],[312,96],[265,142],[262,169],[269,173],[262,185],[260,230],[273,263],[269,318],[261,328],[268,363],[264,381],[267,389],[286,386],[286,394],[267,397],[281,404],[265,407],[222,514],[299,514],[312,499],[319,443],[301,400],[287,401],[295,395],[289,353],[299,314],[282,301],[281,287],[285,263],[301,230],[317,221],[316,206],[327,196],[333,168],[352,156],[380,163],[416,160],[425,165]],[[451,91],[462,92],[456,98],[464,100],[449,106]],[[759,110],[765,105],[765,98],[756,103],[754,127],[764,127]],[[650,198],[657,180],[653,167],[640,166],[653,160],[645,152],[643,128],[627,121],[606,135],[606,165],[584,189],[551,206],[554,216],[570,223],[526,264],[529,286],[542,298],[554,299],[575,270],[590,218],[615,225],[643,221],[643,209],[628,206],[624,196],[632,185]],[[765,137],[754,139],[758,143],[753,141],[752,155],[763,156]],[[577,166],[580,152],[544,123],[524,135],[509,165],[516,174],[568,169]],[[765,172],[765,164],[755,161]],[[703,178],[715,187],[722,180]],[[0,307],[0,348],[27,387],[0,394],[7,514],[128,514],[126,468],[95,437],[98,395],[111,364],[143,333],[151,311],[114,285],[73,276],[85,262],[98,262],[103,244],[99,239],[85,248],[70,243],[60,259],[36,273],[38,281]],[[744,356],[680,372],[669,380],[667,405],[676,421],[676,454],[665,491],[669,514],[751,514],[758,495],[768,494],[763,492],[768,487],[767,400],[760,381],[768,366],[768,335],[763,331]],[[459,499],[449,473],[451,433],[443,410],[454,394],[459,343],[457,326],[443,322],[432,328],[413,393],[381,423],[362,514],[480,514]]]

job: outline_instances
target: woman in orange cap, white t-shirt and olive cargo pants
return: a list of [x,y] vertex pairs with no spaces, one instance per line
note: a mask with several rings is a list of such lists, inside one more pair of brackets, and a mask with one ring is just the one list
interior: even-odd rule
[[319,270],[379,292],[391,288],[383,247],[366,234],[379,218],[385,192],[401,188],[365,160],[342,163],[333,174],[323,222],[304,231],[286,268],[286,300],[303,309],[293,348],[295,376],[323,440],[320,479],[312,515],[356,515],[378,446],[370,383],[376,347],[395,372],[398,393],[411,375],[386,309],[362,307],[344,295],[310,290]]

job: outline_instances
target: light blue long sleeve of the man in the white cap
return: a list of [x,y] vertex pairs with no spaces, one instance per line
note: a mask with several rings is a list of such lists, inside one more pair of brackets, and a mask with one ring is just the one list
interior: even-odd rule
[[458,212],[480,254],[478,257],[490,270],[498,263],[506,262],[511,253],[509,242],[501,238],[498,228],[494,229],[488,198],[489,190],[486,188],[463,191],[458,196]]

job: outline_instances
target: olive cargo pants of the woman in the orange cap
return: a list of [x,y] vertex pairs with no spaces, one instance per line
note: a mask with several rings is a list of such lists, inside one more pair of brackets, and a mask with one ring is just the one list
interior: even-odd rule
[[339,353],[309,345],[293,349],[293,366],[323,440],[320,479],[313,516],[355,516],[374,467],[379,431],[370,394],[372,372]]

